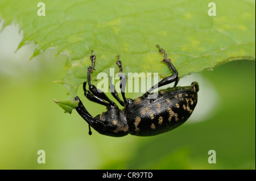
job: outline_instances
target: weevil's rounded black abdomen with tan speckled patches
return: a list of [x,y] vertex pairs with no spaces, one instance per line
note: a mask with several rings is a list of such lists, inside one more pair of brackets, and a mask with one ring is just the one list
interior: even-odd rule
[[152,136],[183,124],[197,103],[197,92],[188,87],[161,90],[153,102],[143,97],[134,99],[130,107],[132,114],[127,119],[130,134]]

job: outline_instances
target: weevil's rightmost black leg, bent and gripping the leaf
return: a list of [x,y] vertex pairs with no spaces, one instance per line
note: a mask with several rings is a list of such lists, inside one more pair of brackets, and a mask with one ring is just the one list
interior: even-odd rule
[[178,72],[175,69],[174,65],[171,62],[171,59],[167,58],[166,52],[160,47],[159,45],[156,45],[159,48],[159,52],[163,53],[164,59],[163,61],[166,62],[169,66],[169,68],[174,71],[174,74],[172,74],[170,77],[164,78],[162,81],[158,82],[156,85],[152,86],[150,90],[148,90],[145,94],[143,94],[144,97],[146,97],[150,92],[157,89],[158,87],[165,86],[169,83],[175,82],[174,87],[176,87],[177,83],[179,82]]

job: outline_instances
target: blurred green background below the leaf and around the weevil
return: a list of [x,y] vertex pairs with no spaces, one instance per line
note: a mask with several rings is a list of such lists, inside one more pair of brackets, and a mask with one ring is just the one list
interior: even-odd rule
[[[14,53],[21,39],[15,26],[0,33],[0,169],[255,169],[255,61],[181,79],[180,85],[199,82],[199,103],[174,131],[89,136],[76,111],[63,113],[52,101],[68,98],[64,86],[52,83],[64,76],[66,57],[49,50],[28,61],[35,45]],[[93,116],[105,111],[88,100],[85,106]],[[37,162],[41,149],[45,164]],[[209,150],[216,151],[215,164],[208,163]]]

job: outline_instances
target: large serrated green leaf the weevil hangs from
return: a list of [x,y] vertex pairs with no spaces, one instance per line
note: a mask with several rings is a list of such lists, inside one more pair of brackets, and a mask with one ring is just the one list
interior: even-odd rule
[[59,82],[73,100],[86,68],[90,51],[97,56],[96,75],[109,74],[121,56],[124,73],[158,72],[171,74],[159,44],[172,59],[179,76],[212,70],[233,60],[255,60],[255,2],[214,1],[216,16],[209,16],[208,1],[43,1],[46,16],[38,16],[37,2],[0,2],[0,17],[5,26],[19,24],[23,40],[34,42],[32,57],[56,49],[67,55],[65,77]]

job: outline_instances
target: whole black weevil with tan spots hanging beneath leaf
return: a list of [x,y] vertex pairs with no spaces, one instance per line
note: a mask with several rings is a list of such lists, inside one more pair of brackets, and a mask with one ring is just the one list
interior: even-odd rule
[[[122,84],[120,88],[123,100],[119,98],[115,90],[112,91],[112,95],[124,106],[121,110],[104,92],[99,91],[90,83],[90,76],[92,71],[95,70],[96,61],[96,56],[92,51],[90,56],[92,66],[89,66],[87,74],[89,90],[86,90],[86,82],[84,82],[84,95],[89,100],[106,106],[106,111],[93,117],[77,96],[75,100],[79,100],[79,106],[76,111],[89,124],[89,128],[92,127],[101,134],[114,137],[126,136],[129,133],[136,136],[154,136],[171,131],[188,120],[196,107],[199,85],[197,82],[192,82],[191,86],[177,87],[179,81],[178,72],[172,65],[171,60],[167,58],[166,52],[159,45],[157,47],[164,56],[163,62],[166,62],[174,74],[164,78],[152,86],[145,94],[134,100],[127,99],[125,91],[123,91],[125,86],[121,87],[121,85],[126,85],[126,75],[122,73],[122,62],[118,56],[116,63],[121,74]],[[154,89],[172,82],[175,82],[174,87],[159,90],[156,98],[149,98],[148,95],[152,94],[151,92]],[[110,89],[113,90],[114,86],[110,85]]]

